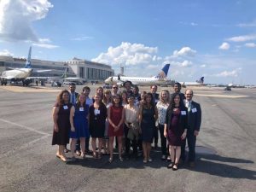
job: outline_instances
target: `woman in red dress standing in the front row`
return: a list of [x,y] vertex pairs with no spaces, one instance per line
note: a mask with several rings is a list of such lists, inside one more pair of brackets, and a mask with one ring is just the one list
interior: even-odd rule
[[109,136],[109,162],[113,161],[113,138],[118,138],[119,143],[119,160],[122,158],[122,137],[124,136],[124,119],[125,110],[121,104],[121,98],[119,95],[113,96],[113,106],[108,108],[108,136]]

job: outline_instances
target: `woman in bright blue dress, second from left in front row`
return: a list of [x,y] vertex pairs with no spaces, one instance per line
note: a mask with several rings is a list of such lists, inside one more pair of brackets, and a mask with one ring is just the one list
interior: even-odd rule
[[81,157],[85,158],[85,138],[89,137],[89,128],[88,128],[88,113],[89,106],[86,105],[85,95],[81,93],[79,95],[79,100],[75,106],[70,110],[70,138],[71,138],[71,154],[74,159],[74,152],[77,140],[80,139],[81,145]]

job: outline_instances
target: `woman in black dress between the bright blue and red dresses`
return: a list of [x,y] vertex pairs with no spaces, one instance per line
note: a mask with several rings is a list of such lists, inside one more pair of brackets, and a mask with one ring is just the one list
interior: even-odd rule
[[[102,139],[105,133],[105,122],[107,118],[107,108],[102,103],[101,96],[96,93],[94,103],[89,108],[89,127],[91,135],[91,146],[93,157],[102,159]],[[96,138],[98,138],[99,154],[96,155]]]

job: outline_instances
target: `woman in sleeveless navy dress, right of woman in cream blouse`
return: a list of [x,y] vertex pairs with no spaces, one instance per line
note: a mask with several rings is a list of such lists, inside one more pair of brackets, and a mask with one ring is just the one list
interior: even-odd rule
[[157,108],[154,105],[153,95],[147,93],[144,102],[139,108],[139,124],[142,129],[144,163],[151,162],[150,151],[153,143],[155,121],[158,119]]

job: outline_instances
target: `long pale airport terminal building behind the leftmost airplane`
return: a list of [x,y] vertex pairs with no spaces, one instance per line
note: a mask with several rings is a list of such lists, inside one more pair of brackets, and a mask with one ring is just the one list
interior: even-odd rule
[[[22,68],[25,66],[25,58],[15,58],[12,56],[0,55],[0,73],[12,68]],[[66,77],[80,78],[84,82],[100,81],[107,79],[113,75],[112,67],[92,62],[73,58],[71,61],[43,61],[32,59],[32,75],[31,77],[51,77],[60,78],[66,71]],[[67,70],[66,70],[67,68]],[[50,70],[43,73],[38,73],[38,70]]]

